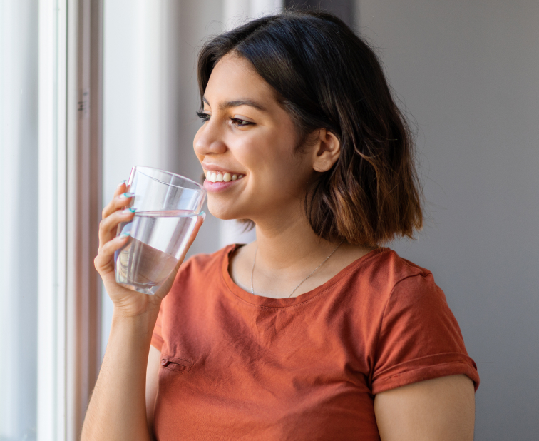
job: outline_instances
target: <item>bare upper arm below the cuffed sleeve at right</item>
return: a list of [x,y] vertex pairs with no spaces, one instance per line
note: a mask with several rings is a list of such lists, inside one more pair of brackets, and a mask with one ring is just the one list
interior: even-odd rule
[[473,441],[473,382],[451,375],[380,392],[374,413],[382,441]]

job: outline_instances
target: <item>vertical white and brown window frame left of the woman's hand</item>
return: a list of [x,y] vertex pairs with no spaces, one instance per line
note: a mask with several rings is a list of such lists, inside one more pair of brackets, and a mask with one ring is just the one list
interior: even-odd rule
[[38,440],[78,440],[101,363],[102,11],[39,1]]

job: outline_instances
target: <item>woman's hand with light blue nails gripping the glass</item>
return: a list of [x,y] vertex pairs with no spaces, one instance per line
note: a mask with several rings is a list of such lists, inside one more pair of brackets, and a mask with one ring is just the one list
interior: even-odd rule
[[93,263],[103,279],[109,297],[114,303],[115,313],[134,317],[143,314],[148,310],[159,309],[161,300],[163,300],[165,295],[170,291],[176,273],[178,273],[178,269],[183,263],[185,254],[188,252],[193,240],[195,240],[200,225],[202,225],[203,217],[201,216],[197,221],[193,234],[191,235],[183,254],[178,260],[178,265],[176,265],[173,272],[170,273],[168,280],[163,283],[163,286],[158,292],[155,293],[155,295],[138,293],[138,291],[133,291],[118,285],[118,283],[116,283],[116,274],[114,273],[114,253],[116,250],[126,245],[130,240],[129,235],[120,235],[116,237],[118,224],[130,222],[135,216],[135,213],[127,208],[130,204],[130,194],[125,193],[125,190],[125,183],[121,183],[118,188],[116,188],[112,201],[103,208],[103,220],[101,220],[101,223],[99,224],[99,250]]

